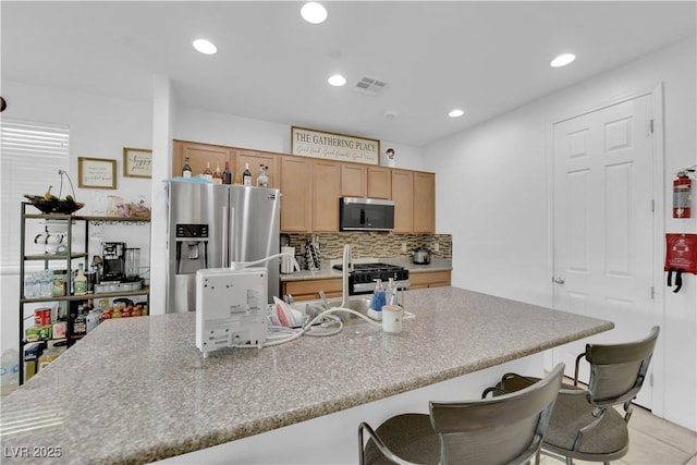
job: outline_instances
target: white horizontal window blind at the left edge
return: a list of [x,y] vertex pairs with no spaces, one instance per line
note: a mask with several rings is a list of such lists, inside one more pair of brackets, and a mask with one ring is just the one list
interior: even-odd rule
[[[42,195],[49,185],[58,184],[52,191],[58,196],[58,170],[68,170],[69,149],[70,129],[66,125],[8,118],[0,120],[0,273],[20,271],[20,204],[26,200],[24,194]],[[65,187],[63,185],[63,197]],[[27,228],[33,225],[38,230],[37,223],[28,221]],[[33,237],[36,232],[27,229],[26,234]]]

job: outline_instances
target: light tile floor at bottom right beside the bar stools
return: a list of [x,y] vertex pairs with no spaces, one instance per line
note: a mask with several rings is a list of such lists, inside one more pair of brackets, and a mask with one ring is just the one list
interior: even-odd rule
[[[540,464],[562,462],[542,455]],[[629,452],[614,464],[627,465],[697,465],[697,432],[665,421],[649,411],[634,407],[629,420]],[[574,461],[575,465],[597,462]]]

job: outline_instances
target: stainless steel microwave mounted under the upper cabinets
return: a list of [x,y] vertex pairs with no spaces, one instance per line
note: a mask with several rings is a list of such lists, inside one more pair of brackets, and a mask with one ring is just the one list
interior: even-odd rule
[[341,197],[340,231],[390,231],[394,229],[394,201],[381,198]]

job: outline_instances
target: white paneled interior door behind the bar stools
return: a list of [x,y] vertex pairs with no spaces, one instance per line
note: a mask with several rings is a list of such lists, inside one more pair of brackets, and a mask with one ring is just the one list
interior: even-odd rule
[[[643,338],[653,321],[651,96],[561,121],[553,139],[554,306],[614,322],[590,341]],[[554,364],[573,375],[586,342],[554,350]],[[648,408],[649,384],[637,399]]]

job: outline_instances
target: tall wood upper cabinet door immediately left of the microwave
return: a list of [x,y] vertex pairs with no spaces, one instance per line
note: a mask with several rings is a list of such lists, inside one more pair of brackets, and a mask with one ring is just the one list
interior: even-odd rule
[[339,231],[339,197],[341,197],[342,163],[313,162],[313,231]]

